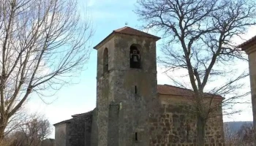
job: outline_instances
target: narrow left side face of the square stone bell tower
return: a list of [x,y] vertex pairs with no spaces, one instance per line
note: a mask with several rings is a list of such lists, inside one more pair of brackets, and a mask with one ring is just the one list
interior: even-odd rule
[[[109,72],[112,69],[113,64],[110,64],[113,60],[113,47],[114,39],[108,40],[101,48],[97,50],[97,123],[94,127],[97,127],[97,141],[94,139],[94,145],[105,146],[108,144],[108,106],[112,96],[110,90]],[[108,49],[108,72],[104,72],[104,50]],[[112,87],[113,88],[113,87]]]

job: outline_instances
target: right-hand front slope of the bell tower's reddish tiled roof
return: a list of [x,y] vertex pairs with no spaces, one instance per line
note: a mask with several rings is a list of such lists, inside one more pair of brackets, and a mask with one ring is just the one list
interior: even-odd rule
[[116,29],[113,32],[116,32],[116,33],[119,33],[119,34],[129,34],[129,35],[135,35],[135,36],[141,36],[141,37],[151,37],[151,38],[154,38],[154,39],[160,39],[160,37],[148,34],[148,33],[143,32],[143,31],[139,31],[135,28],[130,28],[128,26]]

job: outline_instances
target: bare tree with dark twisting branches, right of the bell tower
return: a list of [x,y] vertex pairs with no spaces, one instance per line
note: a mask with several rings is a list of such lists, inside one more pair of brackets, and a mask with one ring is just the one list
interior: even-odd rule
[[[246,59],[232,39],[255,25],[255,6],[251,0],[138,0],[135,12],[144,27],[165,38],[159,61],[167,71],[184,70],[189,78],[189,85],[171,79],[194,91],[197,146],[204,145],[206,121],[215,107],[211,100],[204,100],[204,93],[225,96],[226,104],[249,93],[238,92],[248,72],[233,67],[235,61]],[[220,77],[223,82],[211,83]]]

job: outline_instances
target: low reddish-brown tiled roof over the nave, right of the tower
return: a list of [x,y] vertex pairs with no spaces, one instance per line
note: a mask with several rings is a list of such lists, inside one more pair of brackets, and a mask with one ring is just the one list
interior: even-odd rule
[[[173,96],[192,96],[194,91],[186,89],[186,88],[179,88],[173,85],[157,85],[157,93],[162,95],[173,95]],[[205,93],[205,96],[214,98],[221,98],[222,96],[214,95],[211,93]]]

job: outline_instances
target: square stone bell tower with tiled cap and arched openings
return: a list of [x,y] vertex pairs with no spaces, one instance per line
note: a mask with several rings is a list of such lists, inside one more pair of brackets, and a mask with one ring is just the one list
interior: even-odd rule
[[97,50],[97,146],[148,146],[157,99],[156,42],[134,28],[113,31]]

